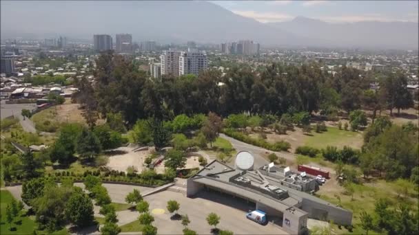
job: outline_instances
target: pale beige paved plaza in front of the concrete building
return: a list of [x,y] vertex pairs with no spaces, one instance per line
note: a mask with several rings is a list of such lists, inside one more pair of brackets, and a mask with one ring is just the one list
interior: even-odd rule
[[[208,225],[206,220],[207,215],[211,212],[221,216],[220,223],[217,226],[219,229],[231,230],[234,234],[287,234],[275,225],[259,225],[246,219],[245,213],[247,210],[245,211],[245,209],[249,208],[246,203],[225,197],[225,195],[217,195],[215,192],[202,193],[205,193],[205,198],[196,197],[191,199],[183,194],[167,190],[145,197],[145,200],[150,203],[150,211],[155,220],[154,226],[158,228],[159,234],[183,233],[181,221],[170,219],[171,214],[167,212],[166,205],[169,200],[176,200],[181,204],[178,214],[187,214],[191,221],[188,227],[198,234],[211,234],[212,226]],[[208,199],[214,199],[215,201]],[[229,205],[234,205],[235,208]],[[165,212],[161,214],[161,211],[156,209],[163,209]]]

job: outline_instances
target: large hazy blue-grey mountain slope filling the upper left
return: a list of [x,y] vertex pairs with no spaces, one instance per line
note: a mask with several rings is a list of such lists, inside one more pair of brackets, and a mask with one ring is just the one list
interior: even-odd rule
[[80,38],[131,33],[136,40],[165,43],[249,39],[265,45],[295,45],[299,40],[205,1],[1,1],[2,38],[23,33]]

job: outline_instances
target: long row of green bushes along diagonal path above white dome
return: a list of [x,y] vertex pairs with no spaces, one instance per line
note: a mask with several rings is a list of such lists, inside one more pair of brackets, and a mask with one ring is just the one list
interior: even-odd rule
[[238,139],[241,142],[245,142],[247,144],[252,144],[254,146],[259,146],[261,148],[266,148],[268,150],[272,151],[287,151],[289,148],[291,148],[291,144],[285,141],[276,142],[274,144],[268,143],[265,141],[265,139],[254,139],[252,137],[249,137],[241,132],[234,131],[232,129],[226,128],[223,130],[223,133],[225,135],[228,135],[229,137],[232,137],[234,139]]

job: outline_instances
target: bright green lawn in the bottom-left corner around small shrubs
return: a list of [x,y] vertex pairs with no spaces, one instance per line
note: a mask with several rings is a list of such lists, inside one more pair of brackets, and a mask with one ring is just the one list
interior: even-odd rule
[[[16,231],[10,231],[10,224],[6,221],[6,207],[8,203],[11,203],[13,199],[12,194],[8,190],[0,190],[0,214],[1,214],[1,223],[0,223],[0,234],[32,234],[34,229],[37,227],[37,224],[34,221],[34,218],[29,216],[19,215],[14,218],[12,222],[12,227],[16,227]],[[32,216],[33,217],[33,216]],[[19,223],[21,221],[21,223]],[[19,223],[19,224],[17,224]],[[50,234],[46,231],[37,231],[38,234]],[[55,231],[52,234],[68,234],[67,230]]]

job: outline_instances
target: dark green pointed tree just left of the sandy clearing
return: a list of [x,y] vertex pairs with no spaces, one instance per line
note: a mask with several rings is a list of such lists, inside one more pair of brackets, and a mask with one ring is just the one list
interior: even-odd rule
[[101,143],[98,137],[88,128],[83,128],[81,131],[76,143],[76,152],[80,157],[87,159],[92,159],[101,152]]

